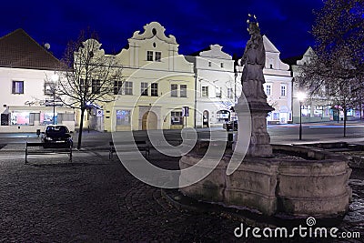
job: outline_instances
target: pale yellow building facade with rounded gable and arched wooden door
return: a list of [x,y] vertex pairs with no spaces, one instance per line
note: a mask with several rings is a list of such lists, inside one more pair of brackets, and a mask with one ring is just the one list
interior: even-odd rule
[[193,64],[178,55],[175,36],[157,22],[144,26],[116,55],[123,80],[116,101],[103,106],[103,130],[179,129],[194,126]]

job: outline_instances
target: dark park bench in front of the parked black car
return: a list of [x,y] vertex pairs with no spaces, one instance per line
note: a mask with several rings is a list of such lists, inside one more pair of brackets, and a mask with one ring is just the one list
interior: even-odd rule
[[25,164],[29,155],[55,155],[68,154],[69,161],[72,162],[72,144],[48,144],[48,143],[28,143],[25,146]]

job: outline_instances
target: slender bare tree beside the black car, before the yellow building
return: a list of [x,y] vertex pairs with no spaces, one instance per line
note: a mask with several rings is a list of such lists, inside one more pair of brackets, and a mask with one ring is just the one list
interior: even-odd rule
[[77,149],[81,148],[86,109],[113,101],[122,79],[122,67],[116,65],[115,56],[105,55],[97,39],[95,32],[82,31],[76,42],[68,43],[62,59],[65,71],[60,72],[56,89],[66,106],[80,110]]

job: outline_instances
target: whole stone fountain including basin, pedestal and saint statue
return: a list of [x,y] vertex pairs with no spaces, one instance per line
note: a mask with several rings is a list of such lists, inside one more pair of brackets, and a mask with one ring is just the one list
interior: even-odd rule
[[[245,97],[239,98],[235,107],[238,135],[207,177],[180,191],[205,202],[248,208],[268,216],[328,218],[344,214],[351,197],[351,169],[346,157],[309,147],[270,145],[266,117],[273,108],[263,90],[266,58],[256,18],[248,21],[248,32],[241,78]],[[242,142],[247,137],[248,143]],[[211,146],[219,144],[199,142],[181,157],[179,167],[198,167]],[[231,169],[229,164],[236,155],[241,159]],[[187,175],[181,174],[180,185],[186,185],[187,180]]]

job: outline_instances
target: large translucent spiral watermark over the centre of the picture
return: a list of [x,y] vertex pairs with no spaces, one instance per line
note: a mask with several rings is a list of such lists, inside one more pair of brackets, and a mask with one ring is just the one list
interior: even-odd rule
[[[185,63],[188,66],[190,64],[187,63],[186,58],[186,56],[174,56],[164,58],[161,60],[161,62],[149,63],[147,66],[138,68],[131,76],[126,79],[126,81],[133,83],[138,83],[138,81],[144,83],[147,82],[147,88],[149,88],[150,91],[153,88],[155,92],[157,86],[151,86],[152,84],[172,84],[174,81],[177,84],[182,84],[190,82],[187,80],[191,80],[191,78],[193,78],[195,82],[205,83],[208,86],[215,86],[215,82],[217,80],[209,80],[210,77],[207,76],[196,77],[192,76],[193,74],[187,71],[162,72],[160,70],[160,66],[162,64]],[[215,65],[219,66],[219,64]],[[234,76],[231,76],[231,74],[226,74],[226,76],[227,77],[225,80],[230,79],[232,81],[231,84],[235,84]],[[172,112],[176,113],[177,111],[181,110],[183,106],[188,106],[186,104],[187,99],[180,99],[179,103],[177,101],[176,103],[171,104],[171,96],[176,96],[176,93],[173,93],[172,95],[172,92],[176,91],[169,90],[169,88],[171,87],[164,86],[163,89],[161,87],[163,92],[157,91],[157,96],[154,96],[153,99],[150,97],[146,98],[146,96],[118,96],[114,104],[114,107],[116,107],[116,116],[120,116],[120,118],[124,119],[124,121],[127,119],[127,124],[130,126],[130,129],[123,132],[113,132],[112,137],[117,156],[124,167],[126,167],[126,169],[134,177],[154,187],[187,187],[207,177],[217,167],[221,158],[225,154],[227,146],[227,134],[225,134],[225,137],[221,137],[223,133],[213,132],[213,130],[208,129],[207,131],[210,142],[209,146],[207,147],[207,152],[191,167],[178,170],[168,170],[161,167],[156,167],[147,161],[147,159],[143,157],[143,155],[138,150],[134,140],[133,130],[142,129],[142,126],[147,126],[149,122],[147,119],[152,116],[154,116],[153,122],[157,129],[147,129],[147,139],[159,153],[169,157],[181,157],[190,152],[197,144],[197,130],[194,127],[188,126],[181,130],[181,137],[183,141],[180,145],[172,146],[167,142],[163,134],[163,127],[165,127],[165,125],[167,125],[166,123],[169,122],[168,119],[170,118],[168,117]],[[190,97],[201,95],[195,89],[187,89],[186,93],[187,96]],[[125,99],[127,99],[127,104]],[[153,100],[153,102],[151,103],[150,100]],[[175,100],[177,100],[177,98]],[[215,110],[228,110],[230,106],[235,106],[233,103],[224,104],[224,102],[220,102],[220,104],[218,104],[216,99],[210,99],[208,97],[205,98],[205,102],[208,102],[210,106],[215,106]],[[239,102],[241,107],[240,114],[244,114],[245,117],[250,117],[248,102],[243,94],[241,94]],[[201,108],[201,110],[194,110],[193,108],[195,106],[193,100],[190,101],[189,107],[191,109],[190,114],[196,113],[198,116],[202,116],[205,111],[203,108]],[[210,110],[213,109],[210,107]],[[120,114],[117,115],[117,112]],[[215,116],[217,116],[217,114],[215,114]],[[190,116],[188,119],[193,120],[196,117],[197,116]],[[117,123],[117,121],[114,120],[115,118],[116,117],[113,116],[113,126],[116,126]],[[144,125],[143,122],[145,123]],[[245,132],[247,132],[247,134],[250,133],[250,118],[247,118],[246,121],[239,120],[239,124],[243,124],[244,127],[246,127]],[[130,142],[127,149],[125,149],[125,147],[117,147],[118,142],[126,141]],[[243,137],[237,142],[239,151],[237,153],[234,151],[230,162],[227,165],[227,175],[232,174],[241,164],[247,153],[249,142],[250,137]]]

